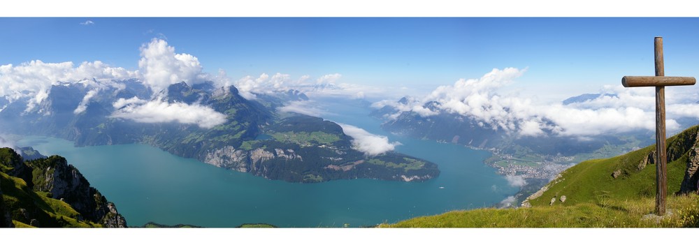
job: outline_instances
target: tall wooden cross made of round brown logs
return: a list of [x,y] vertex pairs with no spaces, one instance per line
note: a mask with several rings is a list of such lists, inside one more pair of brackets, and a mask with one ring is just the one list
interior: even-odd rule
[[625,76],[624,87],[656,87],[656,215],[665,215],[668,157],[665,148],[665,86],[694,85],[694,77],[665,77],[663,37],[655,38],[656,75],[654,77]]

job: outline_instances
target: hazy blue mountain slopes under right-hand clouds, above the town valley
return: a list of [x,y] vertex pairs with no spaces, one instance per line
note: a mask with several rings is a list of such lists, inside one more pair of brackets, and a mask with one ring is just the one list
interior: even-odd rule
[[[602,95],[584,94],[568,98],[564,103],[583,102],[599,96]],[[410,105],[415,102],[415,98],[403,97],[398,100],[398,105]],[[521,154],[526,151],[537,154],[572,156],[593,152],[600,149],[600,147],[604,147],[605,144],[623,144],[625,142],[614,135],[601,135],[579,140],[572,137],[556,136],[550,131],[545,131],[547,135],[543,137],[511,135],[503,130],[495,130],[493,128],[497,128],[497,126],[490,125],[474,117],[442,110],[440,109],[440,104],[436,101],[427,101],[421,103],[421,105],[435,113],[424,116],[414,111],[401,112],[394,106],[384,105],[377,110],[373,110],[370,115],[384,119],[382,128],[387,131],[410,135],[415,138],[440,140],[481,149],[492,149],[503,154]],[[548,125],[554,124],[552,121],[544,121],[544,123]]]

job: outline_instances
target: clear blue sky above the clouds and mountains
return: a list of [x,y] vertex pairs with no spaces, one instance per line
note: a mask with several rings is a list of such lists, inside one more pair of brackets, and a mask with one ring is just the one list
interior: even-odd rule
[[527,70],[513,88],[565,96],[653,75],[653,37],[663,36],[665,74],[699,76],[699,18],[2,18],[0,31],[0,64],[136,70],[139,47],[162,38],[233,80],[340,73],[341,82],[431,89],[514,67]]

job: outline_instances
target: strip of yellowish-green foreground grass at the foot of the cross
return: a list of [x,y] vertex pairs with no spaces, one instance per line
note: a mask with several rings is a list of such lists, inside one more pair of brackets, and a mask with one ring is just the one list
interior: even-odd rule
[[644,218],[655,209],[654,198],[607,199],[598,203],[519,209],[450,211],[382,224],[381,228],[655,228],[699,227],[699,195],[668,198],[672,214],[662,220]]

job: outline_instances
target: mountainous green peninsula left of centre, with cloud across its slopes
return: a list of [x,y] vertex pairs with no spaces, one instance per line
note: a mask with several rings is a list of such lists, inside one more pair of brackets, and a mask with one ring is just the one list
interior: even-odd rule
[[295,91],[257,99],[211,82],[171,84],[151,91],[138,80],[54,84],[41,102],[0,101],[4,133],[50,135],[77,146],[145,143],[165,151],[268,179],[424,181],[434,163],[398,154],[365,154],[331,121],[276,108],[308,100]]

